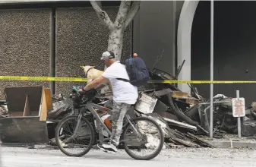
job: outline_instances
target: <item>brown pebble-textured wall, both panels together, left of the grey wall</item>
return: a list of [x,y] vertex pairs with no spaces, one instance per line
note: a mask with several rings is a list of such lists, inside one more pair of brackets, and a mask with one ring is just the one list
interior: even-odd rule
[[[118,8],[104,8],[112,20]],[[0,75],[50,76],[52,9],[0,10]],[[55,11],[55,76],[81,77],[81,65],[96,65],[106,51],[109,31],[93,8],[57,8]],[[122,58],[131,53],[131,28],[125,30]],[[47,81],[2,81],[4,87],[45,86]],[[73,84],[56,82],[55,93],[68,95]]]

